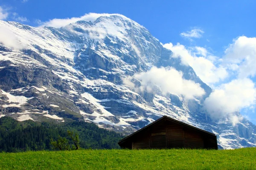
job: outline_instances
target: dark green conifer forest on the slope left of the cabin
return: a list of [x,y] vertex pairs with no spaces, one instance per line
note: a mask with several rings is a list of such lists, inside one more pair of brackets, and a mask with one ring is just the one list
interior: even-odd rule
[[117,149],[122,137],[122,134],[87,122],[56,125],[38,124],[31,120],[18,122],[6,116],[0,118],[0,152],[55,150],[59,148],[54,142],[59,139],[65,140],[66,147],[70,149]]

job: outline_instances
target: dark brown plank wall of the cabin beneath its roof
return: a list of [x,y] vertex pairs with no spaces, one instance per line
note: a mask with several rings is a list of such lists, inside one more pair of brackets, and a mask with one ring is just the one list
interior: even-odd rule
[[215,139],[169,121],[159,122],[137,133],[130,141],[131,149],[149,148],[213,148]]

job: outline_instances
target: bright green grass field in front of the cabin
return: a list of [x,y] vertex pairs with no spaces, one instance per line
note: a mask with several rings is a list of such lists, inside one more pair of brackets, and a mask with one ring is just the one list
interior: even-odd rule
[[253,170],[256,148],[236,150],[74,150],[0,153],[0,169]]

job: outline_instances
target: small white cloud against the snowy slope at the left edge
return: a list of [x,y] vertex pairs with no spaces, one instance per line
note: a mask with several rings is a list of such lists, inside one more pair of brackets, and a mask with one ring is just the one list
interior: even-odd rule
[[9,28],[3,25],[0,25],[0,43],[15,50],[23,48],[23,45],[21,45],[17,36],[9,30]]

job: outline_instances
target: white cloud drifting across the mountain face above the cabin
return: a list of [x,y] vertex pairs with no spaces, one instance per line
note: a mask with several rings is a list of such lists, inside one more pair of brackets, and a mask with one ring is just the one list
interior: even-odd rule
[[147,72],[138,73],[133,76],[135,79],[140,80],[140,87],[136,87],[130,81],[130,77],[124,79],[123,83],[131,88],[137,88],[137,91],[151,92],[155,86],[158,86],[163,94],[183,95],[187,99],[200,97],[205,94],[204,89],[198,83],[183,79],[182,76],[182,72],[175,70],[175,68],[152,67]]

